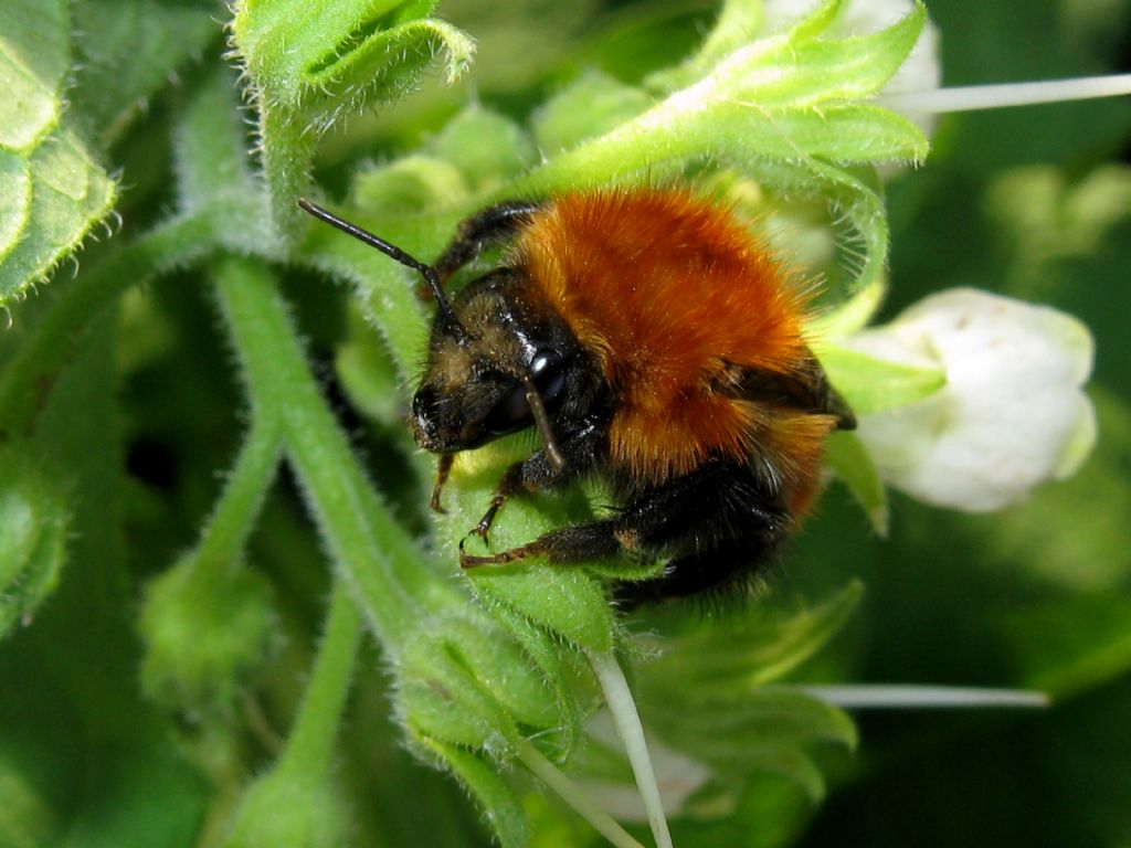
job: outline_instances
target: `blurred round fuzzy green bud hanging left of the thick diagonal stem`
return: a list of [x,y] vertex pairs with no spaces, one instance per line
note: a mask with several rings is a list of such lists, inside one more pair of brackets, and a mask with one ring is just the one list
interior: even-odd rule
[[141,685],[189,716],[224,712],[274,652],[270,586],[249,568],[181,557],[148,587],[141,609]]

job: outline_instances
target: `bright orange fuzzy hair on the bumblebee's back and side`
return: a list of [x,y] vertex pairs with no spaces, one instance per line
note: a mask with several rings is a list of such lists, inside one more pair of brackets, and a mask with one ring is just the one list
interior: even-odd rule
[[513,261],[613,389],[614,469],[662,483],[754,458],[808,502],[832,418],[726,391],[742,367],[803,367],[805,297],[727,209],[682,191],[566,194],[532,216]]

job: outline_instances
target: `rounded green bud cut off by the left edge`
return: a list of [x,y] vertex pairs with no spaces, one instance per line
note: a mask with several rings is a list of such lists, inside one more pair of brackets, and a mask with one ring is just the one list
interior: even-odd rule
[[0,638],[28,624],[58,586],[68,509],[54,479],[20,445],[0,450]]

